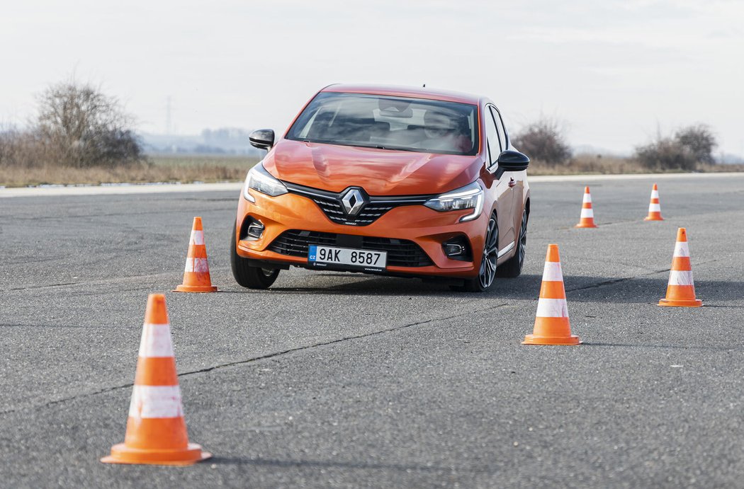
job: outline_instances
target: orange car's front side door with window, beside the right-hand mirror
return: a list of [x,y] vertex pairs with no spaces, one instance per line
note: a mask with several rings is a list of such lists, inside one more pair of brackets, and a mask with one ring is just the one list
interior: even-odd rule
[[493,190],[496,191],[496,217],[498,221],[498,249],[502,250],[514,242],[514,218],[513,218],[513,189],[509,187],[509,175],[504,173],[499,176],[498,155],[504,151],[503,143],[498,134],[496,120],[493,117],[491,107],[487,106],[484,111],[484,129],[486,132],[486,170],[494,178]]

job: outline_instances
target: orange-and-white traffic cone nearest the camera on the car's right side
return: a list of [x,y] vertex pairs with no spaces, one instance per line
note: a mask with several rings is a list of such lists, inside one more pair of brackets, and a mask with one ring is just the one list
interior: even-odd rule
[[563,273],[560,268],[558,245],[548,245],[545,268],[542,271],[540,298],[537,301],[535,328],[527,334],[522,345],[578,345],[579,337],[571,334],[568,304],[565,302]]

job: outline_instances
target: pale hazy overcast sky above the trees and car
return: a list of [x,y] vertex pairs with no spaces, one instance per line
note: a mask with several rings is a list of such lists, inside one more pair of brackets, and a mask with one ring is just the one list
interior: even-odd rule
[[513,133],[631,152],[708,123],[744,156],[744,1],[5,1],[0,123],[53,82],[94,82],[138,129],[283,131],[333,82],[484,94]]

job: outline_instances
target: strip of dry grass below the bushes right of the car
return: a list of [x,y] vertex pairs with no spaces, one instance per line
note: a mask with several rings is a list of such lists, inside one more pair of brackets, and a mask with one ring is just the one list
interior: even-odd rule
[[[556,166],[544,161],[530,162],[530,175],[626,175],[628,173],[679,173],[679,169],[649,169],[632,158],[615,156],[577,155]],[[744,165],[711,165],[699,163],[698,172],[742,172]]]

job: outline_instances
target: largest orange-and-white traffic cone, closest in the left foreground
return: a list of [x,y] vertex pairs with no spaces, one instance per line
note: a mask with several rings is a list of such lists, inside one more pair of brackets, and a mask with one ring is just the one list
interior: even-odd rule
[[212,456],[188,442],[176,359],[163,294],[147,297],[139,357],[124,443],[107,464],[190,465]]

